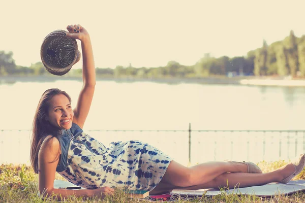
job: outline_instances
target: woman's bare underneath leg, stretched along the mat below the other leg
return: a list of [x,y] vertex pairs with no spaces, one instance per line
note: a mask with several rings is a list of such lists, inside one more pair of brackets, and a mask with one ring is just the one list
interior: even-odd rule
[[219,189],[223,187],[229,187],[229,189],[233,189],[241,187],[259,186],[273,182],[280,182],[286,177],[290,176],[293,172],[294,166],[289,163],[285,166],[282,166],[276,171],[265,174],[223,173],[209,182],[189,187],[175,186],[173,184],[161,181],[154,190],[150,191],[150,194],[169,193],[172,189],[199,190],[207,188]]

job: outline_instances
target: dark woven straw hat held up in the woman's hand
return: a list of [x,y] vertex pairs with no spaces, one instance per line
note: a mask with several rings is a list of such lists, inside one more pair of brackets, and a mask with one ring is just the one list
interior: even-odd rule
[[65,35],[65,30],[52,31],[44,38],[40,56],[46,70],[53,75],[62,76],[80,59],[75,39]]

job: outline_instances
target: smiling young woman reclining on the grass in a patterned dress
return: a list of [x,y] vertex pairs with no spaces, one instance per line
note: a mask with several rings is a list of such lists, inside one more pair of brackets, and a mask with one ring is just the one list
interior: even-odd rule
[[[83,87],[75,109],[70,96],[59,89],[48,89],[39,101],[33,122],[31,163],[39,174],[39,191],[55,197],[102,196],[114,187],[149,190],[150,194],[172,189],[248,187],[271,182],[287,183],[303,170],[305,157],[276,171],[262,174],[251,162],[207,162],[183,166],[160,150],[140,141],[113,142],[108,148],[82,131],[95,85],[95,64],[86,29],[68,25],[67,36],[80,40],[83,53]],[[53,187],[55,172],[88,190]]]

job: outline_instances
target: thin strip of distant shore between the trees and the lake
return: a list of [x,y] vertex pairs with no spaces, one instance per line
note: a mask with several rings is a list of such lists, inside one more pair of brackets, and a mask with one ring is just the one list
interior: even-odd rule
[[[81,77],[66,76],[0,76],[0,84],[15,82],[50,82],[56,80],[82,81]],[[305,79],[285,79],[284,77],[209,77],[209,78],[98,78],[97,81],[155,82],[166,84],[195,83],[195,84],[227,84],[227,85],[259,85],[259,86],[293,86],[305,87]]]

